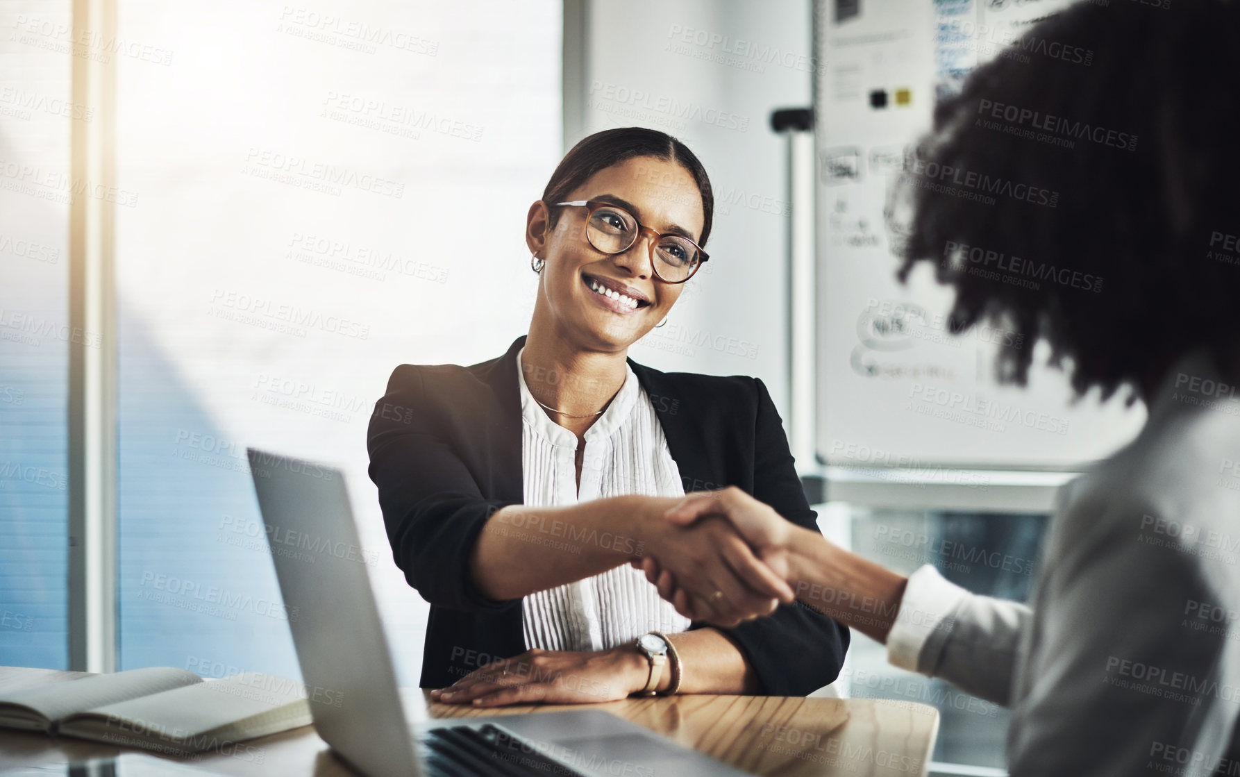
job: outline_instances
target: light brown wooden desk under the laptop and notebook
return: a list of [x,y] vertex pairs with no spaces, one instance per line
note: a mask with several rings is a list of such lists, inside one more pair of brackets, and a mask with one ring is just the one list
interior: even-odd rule
[[[32,682],[71,679],[76,672],[0,667],[0,690]],[[420,693],[413,720],[520,715],[579,706],[510,706],[491,710],[436,704]],[[410,694],[405,694],[405,699]],[[418,691],[412,698],[417,700]],[[593,705],[756,775],[780,777],[909,777],[925,775],[939,731],[939,711],[924,704],[880,699],[800,696],[668,696]],[[236,755],[205,752],[170,758],[224,775],[355,777],[331,756],[311,726],[247,742]],[[122,752],[143,752],[69,737],[0,729],[0,770],[51,766]],[[154,753],[149,753],[154,755]]]

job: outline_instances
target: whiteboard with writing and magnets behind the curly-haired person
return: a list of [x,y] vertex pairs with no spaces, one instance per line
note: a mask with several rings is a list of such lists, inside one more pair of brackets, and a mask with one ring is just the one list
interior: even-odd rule
[[[954,291],[920,263],[908,285],[884,223],[905,149],[936,94],[959,90],[1061,0],[832,0],[816,9],[817,421],[833,466],[1075,470],[1145,421],[1097,393],[1074,402],[1049,348],[992,326],[947,331]],[[1003,207],[999,203],[996,207]],[[1024,388],[994,380],[999,342],[1033,348]]]

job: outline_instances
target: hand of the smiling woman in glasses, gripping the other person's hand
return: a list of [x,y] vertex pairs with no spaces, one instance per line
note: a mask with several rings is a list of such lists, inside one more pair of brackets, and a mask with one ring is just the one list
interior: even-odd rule
[[681,523],[668,519],[668,507],[682,504],[658,499],[651,506],[640,519],[645,554],[632,564],[641,568],[645,563],[673,576],[682,601],[671,601],[681,615],[728,627],[795,601],[784,579],[786,570],[773,570],[755,555],[743,532],[722,514],[699,513]]

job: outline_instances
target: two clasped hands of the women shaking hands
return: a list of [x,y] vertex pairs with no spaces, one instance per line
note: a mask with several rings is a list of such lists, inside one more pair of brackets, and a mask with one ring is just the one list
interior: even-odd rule
[[[644,501],[645,502],[645,501]],[[827,545],[735,486],[651,498],[640,519],[647,554],[630,560],[677,612],[730,627],[791,604],[790,581]]]

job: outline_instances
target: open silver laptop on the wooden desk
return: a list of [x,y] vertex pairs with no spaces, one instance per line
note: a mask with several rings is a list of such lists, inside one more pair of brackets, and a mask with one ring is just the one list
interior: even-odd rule
[[[343,473],[247,449],[319,736],[368,777],[744,775],[601,710],[407,716]],[[413,720],[410,720],[413,719]]]

